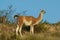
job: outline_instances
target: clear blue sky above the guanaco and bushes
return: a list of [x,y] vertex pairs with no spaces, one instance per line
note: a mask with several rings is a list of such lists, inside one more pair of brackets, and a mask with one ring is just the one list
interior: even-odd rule
[[0,0],[0,10],[7,9],[13,5],[16,12],[27,10],[28,16],[38,17],[40,9],[44,9],[46,14],[43,20],[50,23],[60,21],[60,0]]

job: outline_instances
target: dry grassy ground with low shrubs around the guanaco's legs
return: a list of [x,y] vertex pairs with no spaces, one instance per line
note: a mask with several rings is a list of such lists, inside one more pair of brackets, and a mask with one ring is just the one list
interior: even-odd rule
[[29,34],[29,27],[24,25],[23,36],[16,36],[16,24],[0,24],[0,40],[60,40],[60,22],[50,24],[39,23],[34,27],[35,34]]

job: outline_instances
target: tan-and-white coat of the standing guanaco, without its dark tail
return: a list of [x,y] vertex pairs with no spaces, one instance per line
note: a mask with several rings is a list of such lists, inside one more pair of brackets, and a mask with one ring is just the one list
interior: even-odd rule
[[17,26],[16,30],[18,30],[18,27],[20,27],[19,32],[20,32],[20,35],[22,36],[21,30],[22,30],[23,24],[25,24],[25,25],[30,26],[30,33],[33,34],[34,25],[38,24],[42,20],[42,16],[44,13],[45,13],[45,11],[41,10],[38,18],[34,18],[32,16],[18,16],[18,25],[19,26]]

